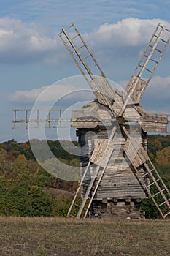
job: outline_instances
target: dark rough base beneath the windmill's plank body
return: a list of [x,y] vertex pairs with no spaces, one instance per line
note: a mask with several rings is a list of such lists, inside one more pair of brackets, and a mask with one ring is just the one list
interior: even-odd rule
[[142,200],[140,198],[126,198],[119,200],[94,200],[92,211],[89,217],[93,218],[125,218],[125,219],[144,219],[145,213],[142,211]]

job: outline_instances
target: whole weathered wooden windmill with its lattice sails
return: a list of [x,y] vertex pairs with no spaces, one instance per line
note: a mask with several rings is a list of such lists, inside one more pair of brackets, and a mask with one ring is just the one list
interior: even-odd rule
[[[147,132],[167,132],[169,115],[147,113],[139,104],[169,44],[169,33],[158,24],[125,91],[110,86],[74,24],[58,33],[96,96],[82,109],[72,110],[82,157],[80,184],[68,217],[140,218],[144,217],[142,199],[148,197],[163,219],[170,214],[170,192],[147,154]],[[24,111],[25,120],[18,120],[15,110],[15,128],[20,122],[27,128],[31,121],[29,110]],[[46,121],[50,125],[58,120],[49,117]],[[82,202],[77,203],[80,193]]]

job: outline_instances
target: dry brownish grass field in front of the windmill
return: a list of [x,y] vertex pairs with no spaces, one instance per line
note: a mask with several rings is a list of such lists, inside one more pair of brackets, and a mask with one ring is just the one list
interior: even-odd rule
[[170,220],[0,217],[0,255],[170,255]]

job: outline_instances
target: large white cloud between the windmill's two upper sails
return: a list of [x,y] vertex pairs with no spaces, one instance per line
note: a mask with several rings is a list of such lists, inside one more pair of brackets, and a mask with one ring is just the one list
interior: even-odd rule
[[139,56],[146,47],[158,23],[170,28],[160,19],[125,18],[115,24],[105,23],[91,34],[85,34],[88,44],[102,56],[111,60],[117,56]]

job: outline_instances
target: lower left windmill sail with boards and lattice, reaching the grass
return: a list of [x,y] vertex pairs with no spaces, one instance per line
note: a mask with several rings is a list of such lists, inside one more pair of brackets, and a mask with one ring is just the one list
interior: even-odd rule
[[[117,129],[116,126],[112,128],[111,135],[109,135],[109,139],[105,140],[105,143],[102,143],[101,141],[97,143],[96,148],[94,149],[93,154],[90,157],[88,165],[85,169],[85,172],[83,173],[77,192],[74,195],[74,199],[72,200],[72,204],[69,208],[67,217],[77,217],[77,218],[83,217],[84,219],[85,217],[87,217],[93,198],[96,195],[98,186],[109,164],[109,159],[112,156],[112,152],[114,151],[113,138],[115,136],[116,129]],[[97,153],[98,151],[102,152],[102,157],[99,159],[99,162],[96,160],[96,155],[98,154]],[[93,170],[93,176],[90,180],[90,183],[87,184],[85,177],[89,171],[91,164],[95,164],[96,167],[95,167],[95,170]],[[81,187],[85,184],[87,185],[88,188],[85,192],[85,196],[83,197],[82,203],[78,205],[76,203],[76,200],[77,200],[77,197],[80,195]],[[76,208],[76,211],[74,211],[74,214],[72,214],[72,211],[74,210],[74,208]]]

